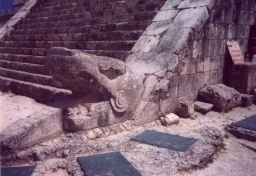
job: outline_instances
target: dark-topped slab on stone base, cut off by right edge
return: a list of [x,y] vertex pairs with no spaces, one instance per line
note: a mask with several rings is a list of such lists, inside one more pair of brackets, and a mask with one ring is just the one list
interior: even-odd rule
[[239,139],[256,141],[256,115],[227,125],[225,129]]

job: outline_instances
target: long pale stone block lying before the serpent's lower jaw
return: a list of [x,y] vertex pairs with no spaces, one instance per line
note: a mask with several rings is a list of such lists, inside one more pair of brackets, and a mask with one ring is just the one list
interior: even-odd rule
[[2,150],[30,147],[63,133],[62,110],[47,106],[27,118],[17,120],[0,134]]

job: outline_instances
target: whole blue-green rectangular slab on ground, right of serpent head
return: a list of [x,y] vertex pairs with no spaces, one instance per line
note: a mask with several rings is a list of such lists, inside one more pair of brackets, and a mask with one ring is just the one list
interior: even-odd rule
[[170,148],[177,151],[186,151],[197,139],[172,135],[170,133],[146,130],[143,133],[133,137],[131,140],[138,141],[153,146]]

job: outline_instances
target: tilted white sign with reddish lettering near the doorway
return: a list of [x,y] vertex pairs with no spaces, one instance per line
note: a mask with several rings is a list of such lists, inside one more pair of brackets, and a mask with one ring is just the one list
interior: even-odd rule
[[228,50],[234,64],[243,63],[244,58],[237,41],[227,41]]

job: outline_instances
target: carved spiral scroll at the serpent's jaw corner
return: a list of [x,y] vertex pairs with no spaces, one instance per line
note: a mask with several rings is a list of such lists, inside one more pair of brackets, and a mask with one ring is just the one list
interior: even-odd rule
[[116,112],[125,112],[128,108],[128,101],[125,91],[116,93],[115,98],[111,98],[111,105]]

